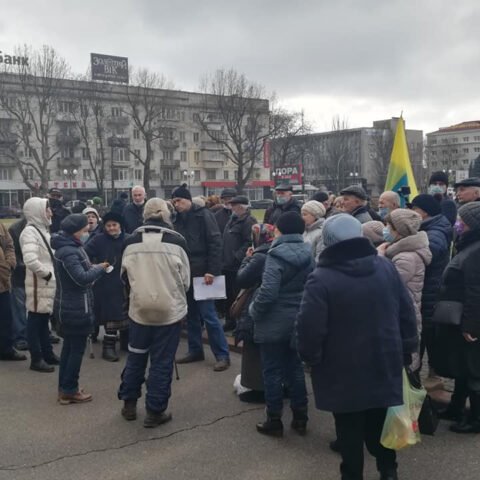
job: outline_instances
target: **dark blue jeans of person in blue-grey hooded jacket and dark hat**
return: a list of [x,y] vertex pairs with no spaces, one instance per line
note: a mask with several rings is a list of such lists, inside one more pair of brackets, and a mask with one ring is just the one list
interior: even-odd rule
[[308,405],[305,373],[297,351],[290,347],[290,342],[259,346],[267,412],[282,414],[284,385],[289,389],[292,410],[305,410]]

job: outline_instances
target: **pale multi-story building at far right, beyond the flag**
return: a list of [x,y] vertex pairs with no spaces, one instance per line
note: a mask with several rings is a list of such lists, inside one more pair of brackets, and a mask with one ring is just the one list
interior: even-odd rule
[[427,133],[428,173],[448,172],[452,181],[467,178],[474,160],[480,156],[480,120],[462,122]]

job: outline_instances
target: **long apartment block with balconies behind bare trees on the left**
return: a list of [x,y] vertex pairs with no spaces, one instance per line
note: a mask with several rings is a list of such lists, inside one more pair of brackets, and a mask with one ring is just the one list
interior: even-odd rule
[[[150,196],[169,197],[181,183],[190,186],[192,195],[236,185],[237,166],[198,122],[202,115],[207,118],[203,126],[224,135],[213,97],[62,80],[42,106],[36,88],[41,79],[32,82],[25,89],[15,75],[0,78],[0,206],[21,205],[32,191],[52,187],[63,190],[66,199],[100,195],[110,202],[118,192],[144,184],[147,155]],[[135,96],[138,116],[132,107]],[[155,115],[143,122],[146,97],[157,105]],[[268,101],[258,100],[258,108],[268,118]],[[245,194],[260,199],[270,187],[262,157]]]

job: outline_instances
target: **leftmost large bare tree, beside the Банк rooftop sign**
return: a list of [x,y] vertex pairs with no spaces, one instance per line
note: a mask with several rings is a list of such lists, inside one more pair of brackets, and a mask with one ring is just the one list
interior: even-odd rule
[[15,161],[28,188],[45,193],[50,163],[59,153],[53,131],[60,88],[70,69],[49,46],[38,51],[25,46],[16,53],[29,61],[5,65],[0,74],[0,106],[10,120],[10,124],[0,129],[0,135],[15,140],[15,148],[7,149],[6,153]]

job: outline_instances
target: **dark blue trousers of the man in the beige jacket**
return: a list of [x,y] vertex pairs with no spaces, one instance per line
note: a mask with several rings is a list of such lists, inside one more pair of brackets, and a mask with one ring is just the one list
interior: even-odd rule
[[137,400],[142,396],[145,370],[150,357],[145,405],[155,413],[167,409],[172,393],[173,364],[180,331],[181,322],[147,326],[130,320],[127,364],[118,390],[120,400]]

